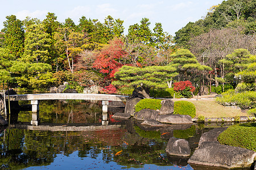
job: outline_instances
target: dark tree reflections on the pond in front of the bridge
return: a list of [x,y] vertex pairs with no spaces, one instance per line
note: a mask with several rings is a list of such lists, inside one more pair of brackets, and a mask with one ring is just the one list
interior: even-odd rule
[[[75,151],[78,151],[80,158],[102,159],[105,163],[116,162],[127,168],[142,168],[143,164],[159,166],[171,166],[172,163],[186,164],[186,160],[180,162],[180,159],[170,159],[167,156],[165,149],[168,139],[164,139],[162,136],[159,138],[159,133],[154,131],[148,132],[138,130],[138,128],[137,131],[141,134],[127,132],[126,126],[117,130],[97,131],[11,129],[9,138],[8,135],[4,137],[3,133],[0,136],[0,166],[2,164],[3,167],[6,166],[10,169],[20,169],[49,165],[57,154],[69,156]],[[197,133],[201,133],[195,126],[183,130],[192,135],[189,131],[195,133],[195,136]],[[153,136],[147,138],[148,134],[153,134]],[[196,138],[198,139],[188,138],[188,141],[198,143],[200,137]],[[115,155],[121,150],[121,154]]]

